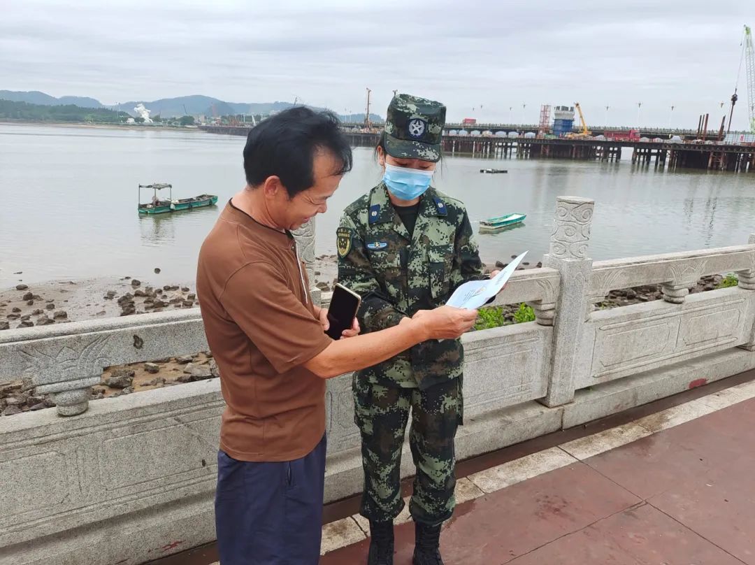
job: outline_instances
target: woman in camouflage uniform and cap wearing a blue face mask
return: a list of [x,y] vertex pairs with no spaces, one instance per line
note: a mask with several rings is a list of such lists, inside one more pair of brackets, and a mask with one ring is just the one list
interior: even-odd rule
[[[444,125],[442,103],[408,94],[393,97],[376,150],[383,180],[341,218],[338,279],[362,296],[363,332],[442,306],[461,283],[486,278],[464,205],[430,187]],[[461,340],[426,341],[354,375],[370,565],[393,563],[410,408],[409,445],[417,468],[409,502],[417,539],[414,563],[442,563],[440,528],[455,506],[454,437],[462,423],[463,366]]]

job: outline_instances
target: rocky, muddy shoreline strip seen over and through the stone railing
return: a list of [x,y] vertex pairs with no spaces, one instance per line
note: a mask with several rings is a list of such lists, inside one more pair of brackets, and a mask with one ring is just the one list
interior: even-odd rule
[[[497,261],[495,264],[486,265],[486,270],[505,266],[502,261]],[[523,264],[519,268],[540,266],[539,263],[532,267]],[[314,272],[316,286],[328,292],[337,272],[334,257],[321,255],[316,258]],[[159,273],[159,270],[156,270],[156,273]],[[690,292],[705,292],[719,288],[722,279],[720,275],[705,276],[690,289]],[[633,289],[613,290],[603,301],[597,302],[596,307],[608,309],[662,298],[660,286],[639,286]],[[0,292],[0,330],[67,323],[74,319],[130,316],[135,313],[193,308],[198,305],[196,292],[188,285],[148,286],[130,276],[117,281],[19,284],[15,289]],[[502,307],[505,323],[513,323],[514,313],[518,308],[519,304]],[[217,378],[218,375],[217,364],[210,351],[146,363],[132,363],[128,366],[113,366],[103,371],[100,384],[92,389],[91,399],[118,397],[184,382]],[[0,383],[0,415],[15,415],[55,406],[51,398],[32,392],[24,390],[21,381]]]

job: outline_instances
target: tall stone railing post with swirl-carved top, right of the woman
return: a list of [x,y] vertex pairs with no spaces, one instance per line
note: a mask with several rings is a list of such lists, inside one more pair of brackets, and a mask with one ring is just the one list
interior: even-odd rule
[[[595,202],[575,196],[556,199],[556,216],[550,236],[550,252],[543,266],[561,273],[561,289],[553,322],[553,354],[550,382],[543,402],[560,406],[574,399],[575,358],[590,302],[586,295],[593,260],[587,257]],[[588,309],[589,308],[589,309]]]

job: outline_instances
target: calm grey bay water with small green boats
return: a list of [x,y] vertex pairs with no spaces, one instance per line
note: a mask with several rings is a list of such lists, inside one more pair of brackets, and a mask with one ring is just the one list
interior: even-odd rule
[[[190,281],[196,255],[222,208],[137,215],[137,185],[173,184],[174,198],[217,194],[224,204],[244,186],[243,137],[183,131],[0,124],[0,286],[100,276]],[[747,242],[755,233],[755,174],[655,171],[624,162],[449,157],[440,190],[463,200],[473,221],[509,212],[525,225],[478,236],[485,261],[525,249],[547,252],[556,196],[596,200],[590,255],[620,258]],[[508,174],[480,174],[482,167]],[[334,253],[341,210],[377,184],[371,150],[355,150],[325,215],[317,254]],[[166,195],[167,196],[167,195]],[[151,193],[143,192],[146,202]],[[474,226],[476,229],[476,226]],[[13,273],[23,271],[23,276]]]

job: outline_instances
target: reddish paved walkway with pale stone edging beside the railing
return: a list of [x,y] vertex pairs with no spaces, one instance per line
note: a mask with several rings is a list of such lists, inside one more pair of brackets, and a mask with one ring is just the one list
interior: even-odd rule
[[[445,524],[447,565],[755,565],[755,383],[471,474]],[[324,529],[324,548],[360,532]],[[364,534],[361,533],[363,536]],[[397,565],[414,525],[396,527]],[[368,540],[320,565],[365,563]]]

